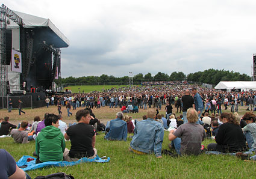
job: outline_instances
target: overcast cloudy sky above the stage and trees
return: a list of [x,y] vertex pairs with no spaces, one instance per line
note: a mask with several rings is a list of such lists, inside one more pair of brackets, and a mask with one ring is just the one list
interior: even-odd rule
[[3,0],[50,19],[69,39],[61,77],[116,77],[208,68],[252,73],[255,0]]

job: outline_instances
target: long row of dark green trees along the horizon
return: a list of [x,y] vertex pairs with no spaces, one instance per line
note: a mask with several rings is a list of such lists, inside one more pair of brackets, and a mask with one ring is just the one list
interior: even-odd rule
[[[146,81],[175,81],[175,80],[187,80],[193,82],[202,82],[217,85],[220,81],[249,81],[251,77],[247,74],[240,74],[239,72],[228,71],[228,70],[214,70],[210,68],[204,71],[198,71],[195,73],[190,73],[186,76],[182,71],[172,72],[170,75],[166,73],[158,72],[155,76],[151,73],[147,73],[143,76],[142,73],[133,76],[134,82],[146,82]],[[128,83],[129,77],[114,77],[113,75],[108,76],[107,74],[102,74],[101,76],[83,76],[83,77],[66,77],[59,78],[58,83],[108,83],[108,82],[122,82]]]

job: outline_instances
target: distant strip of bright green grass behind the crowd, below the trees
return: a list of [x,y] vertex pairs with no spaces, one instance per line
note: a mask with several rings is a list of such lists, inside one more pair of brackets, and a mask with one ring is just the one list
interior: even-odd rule
[[102,91],[102,89],[110,89],[110,88],[120,88],[127,85],[83,85],[83,86],[67,86],[64,90],[69,89],[72,93],[90,93],[92,91]]

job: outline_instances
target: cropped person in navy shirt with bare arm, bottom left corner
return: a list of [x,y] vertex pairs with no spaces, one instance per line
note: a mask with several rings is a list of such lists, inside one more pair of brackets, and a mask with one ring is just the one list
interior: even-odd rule
[[13,156],[0,149],[0,178],[1,179],[31,179],[30,176],[17,166]]

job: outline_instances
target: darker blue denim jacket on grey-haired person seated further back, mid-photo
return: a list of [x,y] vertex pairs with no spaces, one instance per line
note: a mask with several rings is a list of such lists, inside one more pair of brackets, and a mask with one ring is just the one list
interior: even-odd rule
[[[107,127],[106,127],[107,128]],[[126,141],[127,123],[119,118],[110,121],[110,131],[104,137],[107,140]]]

